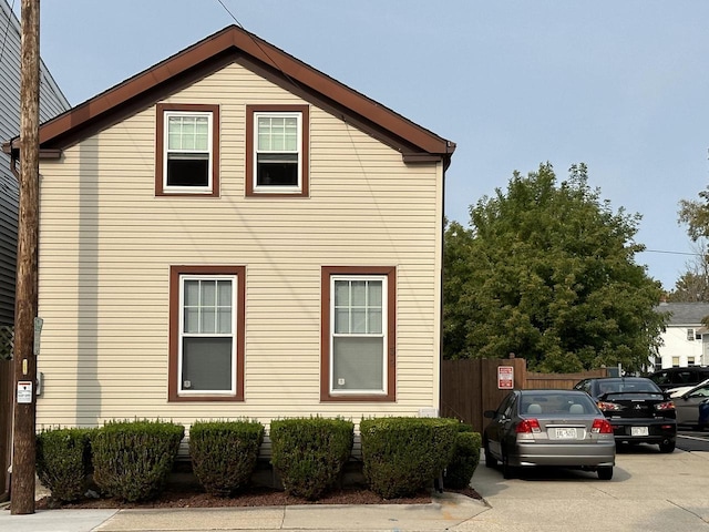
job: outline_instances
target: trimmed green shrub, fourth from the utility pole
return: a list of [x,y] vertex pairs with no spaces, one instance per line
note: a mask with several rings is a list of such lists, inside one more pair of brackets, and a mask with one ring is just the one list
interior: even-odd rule
[[286,493],[317,500],[338,479],[354,441],[354,423],[343,419],[271,421],[271,463]]

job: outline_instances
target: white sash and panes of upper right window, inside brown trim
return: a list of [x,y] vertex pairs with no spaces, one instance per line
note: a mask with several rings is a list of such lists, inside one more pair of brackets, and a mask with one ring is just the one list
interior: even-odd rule
[[[300,192],[302,188],[302,113],[255,112],[254,140],[254,191]],[[259,171],[261,166],[267,165],[281,170],[295,166],[296,183],[259,182]]]

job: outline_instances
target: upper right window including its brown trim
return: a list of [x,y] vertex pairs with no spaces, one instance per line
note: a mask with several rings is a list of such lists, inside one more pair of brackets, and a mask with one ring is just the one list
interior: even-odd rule
[[247,105],[246,195],[308,194],[307,105]]

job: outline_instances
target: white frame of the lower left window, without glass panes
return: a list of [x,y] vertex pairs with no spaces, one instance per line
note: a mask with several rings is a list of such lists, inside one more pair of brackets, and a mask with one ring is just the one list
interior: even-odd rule
[[[186,280],[230,280],[232,282],[232,332],[230,334],[186,334],[185,332],[185,282]],[[237,380],[237,324],[238,324],[238,283],[236,275],[198,275],[198,274],[182,274],[179,276],[179,325],[178,325],[178,346],[177,346],[177,395],[179,396],[234,396],[236,395],[236,380]],[[232,338],[232,372],[229,376],[230,387],[228,390],[192,390],[184,388],[182,372],[183,372],[183,347],[185,337],[192,338]]]

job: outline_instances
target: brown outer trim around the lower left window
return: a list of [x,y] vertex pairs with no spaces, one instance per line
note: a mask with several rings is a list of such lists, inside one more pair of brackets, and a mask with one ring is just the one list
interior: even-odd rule
[[[179,276],[181,275],[235,275],[236,276],[236,393],[181,396],[177,388],[179,367]],[[169,361],[167,369],[167,400],[177,401],[244,401],[244,351],[246,310],[245,266],[171,266],[169,267]]]

